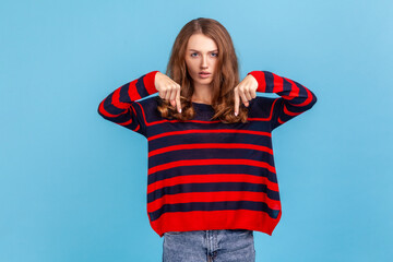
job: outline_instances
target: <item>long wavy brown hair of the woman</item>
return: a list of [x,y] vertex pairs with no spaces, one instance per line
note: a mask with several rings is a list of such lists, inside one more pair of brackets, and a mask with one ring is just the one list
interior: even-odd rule
[[235,116],[234,88],[239,84],[238,59],[231,37],[227,29],[213,19],[198,17],[188,22],[175,39],[166,75],[180,85],[181,112],[158,96],[157,109],[163,118],[190,120],[194,118],[195,110],[191,103],[194,92],[193,80],[188,73],[186,64],[186,49],[189,38],[193,34],[203,34],[212,38],[218,47],[218,60],[212,85],[212,107],[214,116],[211,120],[221,120],[224,123],[247,122],[248,108],[239,98],[239,114]]

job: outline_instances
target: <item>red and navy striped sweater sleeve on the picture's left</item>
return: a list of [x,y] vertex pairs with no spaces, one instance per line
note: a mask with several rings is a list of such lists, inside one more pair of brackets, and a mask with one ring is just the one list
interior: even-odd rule
[[141,105],[135,102],[158,91],[154,81],[158,71],[152,71],[110,93],[99,103],[98,114],[106,120],[146,136],[146,120]]

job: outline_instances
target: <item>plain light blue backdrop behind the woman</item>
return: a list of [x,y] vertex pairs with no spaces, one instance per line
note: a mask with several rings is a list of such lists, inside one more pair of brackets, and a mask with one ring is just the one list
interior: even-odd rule
[[254,234],[257,261],[388,261],[392,13],[388,0],[2,1],[0,261],[160,261],[147,141],[97,107],[165,72],[196,17],[228,29],[241,79],[267,70],[318,97],[273,132],[283,216]]

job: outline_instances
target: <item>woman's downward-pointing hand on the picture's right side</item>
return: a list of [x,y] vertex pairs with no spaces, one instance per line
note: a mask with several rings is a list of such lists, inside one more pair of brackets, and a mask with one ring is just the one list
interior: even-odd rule
[[240,98],[245,106],[249,100],[257,97],[258,82],[254,76],[248,74],[234,90],[235,92],[235,116],[239,114]]

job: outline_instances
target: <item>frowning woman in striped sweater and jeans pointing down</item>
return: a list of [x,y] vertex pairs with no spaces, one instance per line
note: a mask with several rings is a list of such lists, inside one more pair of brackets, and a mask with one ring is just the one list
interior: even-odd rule
[[166,74],[146,73],[99,104],[102,117],[148,141],[147,215],[163,261],[255,261],[253,231],[272,235],[282,215],[271,133],[315,103],[269,71],[240,82],[228,32],[199,17],[177,36]]

